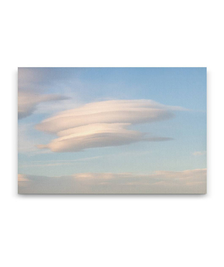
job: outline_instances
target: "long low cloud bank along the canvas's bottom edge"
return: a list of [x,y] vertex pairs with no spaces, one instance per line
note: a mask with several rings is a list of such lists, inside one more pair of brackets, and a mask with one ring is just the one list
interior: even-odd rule
[[206,193],[206,172],[206,169],[181,172],[157,171],[152,174],[90,172],[61,177],[20,174],[18,192],[27,194],[203,194]]

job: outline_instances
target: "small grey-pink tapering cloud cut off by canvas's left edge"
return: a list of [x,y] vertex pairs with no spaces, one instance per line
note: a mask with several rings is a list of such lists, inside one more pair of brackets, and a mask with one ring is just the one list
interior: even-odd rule
[[66,100],[62,95],[39,95],[31,92],[18,91],[18,119],[30,116],[42,102]]

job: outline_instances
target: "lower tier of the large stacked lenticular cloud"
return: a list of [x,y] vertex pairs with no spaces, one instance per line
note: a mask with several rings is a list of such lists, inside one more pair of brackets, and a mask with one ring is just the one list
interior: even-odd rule
[[163,141],[171,138],[144,137],[144,133],[125,129],[130,124],[101,123],[88,124],[58,132],[60,138],[54,139],[39,148],[49,148],[53,152],[82,151],[85,148],[119,146],[138,141]]

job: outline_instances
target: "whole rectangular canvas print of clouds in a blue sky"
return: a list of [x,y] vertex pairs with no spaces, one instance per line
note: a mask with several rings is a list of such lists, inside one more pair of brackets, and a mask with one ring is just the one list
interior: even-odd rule
[[206,193],[206,68],[18,68],[18,193]]

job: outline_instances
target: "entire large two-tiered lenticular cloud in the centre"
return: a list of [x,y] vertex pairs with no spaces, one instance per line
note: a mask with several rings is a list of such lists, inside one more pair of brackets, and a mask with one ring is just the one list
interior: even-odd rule
[[127,129],[132,124],[166,120],[172,111],[185,110],[166,106],[152,100],[109,100],[83,105],[45,119],[36,129],[57,134],[58,138],[39,148],[54,152],[76,152],[85,148],[119,146],[139,141],[164,141],[167,137],[153,137]]

